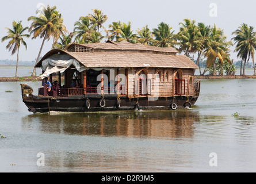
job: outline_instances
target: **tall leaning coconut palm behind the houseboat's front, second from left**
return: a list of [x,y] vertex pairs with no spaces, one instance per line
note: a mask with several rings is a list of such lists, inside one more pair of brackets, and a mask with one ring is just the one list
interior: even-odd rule
[[[49,7],[48,5],[46,8],[43,7],[43,10],[37,10],[36,13],[39,14],[39,16],[31,16],[28,18],[28,21],[33,21],[29,28],[30,34],[33,34],[32,39],[36,39],[38,36],[43,38],[39,55],[37,56],[36,60],[37,63],[39,61],[45,40],[49,40],[53,36],[55,44],[59,39],[60,34],[67,32],[67,29],[63,24],[61,14],[59,14],[59,11],[56,10],[56,6]],[[32,76],[35,76],[35,68],[32,72]]]

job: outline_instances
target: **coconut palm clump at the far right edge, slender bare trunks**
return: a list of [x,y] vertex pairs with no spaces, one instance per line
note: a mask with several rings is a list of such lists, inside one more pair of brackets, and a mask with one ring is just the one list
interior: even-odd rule
[[236,43],[235,51],[238,52],[238,57],[241,57],[240,75],[242,75],[242,64],[243,64],[243,75],[245,74],[246,60],[249,61],[250,57],[253,59],[254,75],[255,75],[255,63],[254,63],[254,49],[256,48],[256,33],[254,32],[253,26],[242,24],[232,34],[235,37],[232,40]]

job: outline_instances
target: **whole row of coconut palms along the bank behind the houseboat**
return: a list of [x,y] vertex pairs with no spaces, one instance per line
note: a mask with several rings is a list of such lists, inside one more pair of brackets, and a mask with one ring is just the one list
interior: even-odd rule
[[[48,5],[43,7],[42,10],[37,10],[36,13],[37,17],[30,16],[28,18],[28,21],[32,21],[30,27],[24,28],[24,30],[28,29],[32,39],[37,39],[37,37],[43,39],[36,63],[41,57],[45,41],[50,39],[53,40],[52,48],[58,49],[66,49],[71,43],[86,44],[100,43],[106,40],[116,42],[126,40],[130,43],[141,43],[156,47],[174,47],[180,54],[190,57],[197,64],[201,76],[206,75],[206,73],[212,76],[234,76],[237,67],[240,67],[240,76],[245,76],[245,68],[249,61],[253,61],[252,67],[255,75],[256,32],[254,32],[252,26],[247,24],[241,24],[232,33],[234,37],[231,40],[227,40],[224,30],[216,25],[197,23],[196,20],[187,18],[179,23],[177,33],[165,22],[160,22],[152,30],[145,25],[134,32],[130,21],[126,23],[117,20],[110,25],[104,25],[108,16],[102,10],[93,9],[91,14],[81,15],[79,20],[74,22],[72,32],[68,32],[63,24],[62,14],[59,13],[56,6],[50,7]],[[21,24],[21,21],[18,23]],[[3,37],[2,41],[10,37],[10,29],[7,29],[9,35]],[[24,30],[22,29],[22,32]],[[19,35],[22,37],[22,34]],[[29,37],[28,34],[25,34],[25,36]],[[19,39],[19,41],[24,40]],[[232,51],[231,46],[234,44],[235,49]],[[10,47],[10,43],[8,45],[6,48]],[[20,46],[20,44],[16,45],[17,48]],[[234,62],[234,59],[230,58],[231,52],[237,52],[239,62]],[[201,70],[202,66],[204,66],[204,70]],[[35,76],[35,69],[32,76]]]

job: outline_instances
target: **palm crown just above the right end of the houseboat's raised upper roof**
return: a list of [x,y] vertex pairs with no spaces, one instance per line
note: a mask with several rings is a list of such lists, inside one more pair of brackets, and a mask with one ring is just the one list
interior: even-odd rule
[[155,46],[157,47],[174,47],[177,44],[175,41],[175,34],[171,32],[172,27],[170,27],[165,22],[161,22],[158,28],[154,28],[152,34],[155,35]]

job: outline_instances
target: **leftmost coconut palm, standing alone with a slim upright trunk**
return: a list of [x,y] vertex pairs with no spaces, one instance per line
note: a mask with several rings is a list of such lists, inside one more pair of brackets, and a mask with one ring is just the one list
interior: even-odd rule
[[22,21],[16,22],[13,21],[13,29],[5,28],[7,29],[7,36],[2,37],[2,42],[5,40],[10,40],[9,43],[6,45],[6,49],[9,49],[9,51],[12,50],[12,55],[17,52],[17,64],[16,64],[16,73],[15,77],[17,77],[17,71],[18,71],[18,53],[20,50],[21,44],[26,47],[26,43],[23,39],[23,37],[29,37],[29,34],[24,34],[25,30],[28,29],[28,27],[23,28],[21,25]]

